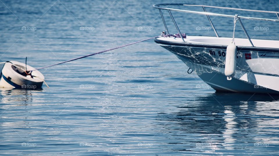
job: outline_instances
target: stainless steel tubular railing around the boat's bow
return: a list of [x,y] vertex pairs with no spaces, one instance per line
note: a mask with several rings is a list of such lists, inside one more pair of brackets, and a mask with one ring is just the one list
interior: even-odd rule
[[[202,7],[204,12],[199,12],[199,11],[191,11],[191,10],[181,10],[181,9],[174,9],[174,8],[164,8],[164,7],[161,7],[161,6],[198,6],[198,7]],[[206,5],[195,5],[195,4],[155,4],[153,5],[154,8],[157,8],[159,9],[160,11],[160,14],[161,14],[161,17],[162,17],[162,20],[163,20],[163,23],[164,23],[164,27],[167,31],[167,34],[169,35],[169,30],[167,28],[167,24],[165,22],[165,19],[164,19],[164,16],[162,14],[162,10],[168,10],[169,12],[169,15],[171,16],[171,19],[172,21],[174,22],[174,25],[181,37],[181,39],[184,41],[182,35],[181,35],[181,32],[176,24],[176,21],[171,13],[171,11],[177,11],[177,12],[187,12],[187,13],[193,13],[193,14],[203,14],[203,15],[206,15],[216,36],[219,37],[218,33],[217,33],[217,30],[215,29],[211,19],[209,16],[221,16],[221,17],[231,17],[231,18],[234,18],[235,15],[228,15],[228,14],[216,14],[216,13],[211,13],[211,12],[206,12],[206,9],[205,8],[220,8],[220,9],[228,9],[228,10],[241,10],[241,11],[249,11],[249,12],[265,12],[265,13],[273,13],[273,14],[276,14],[277,18],[278,19],[266,19],[266,18],[257,18],[257,17],[245,17],[245,16],[238,16],[237,19],[246,35],[246,37],[248,38],[248,40],[250,41],[251,45],[254,47],[241,19],[251,19],[251,20],[264,20],[264,21],[276,21],[276,22],[279,22],[279,12],[276,12],[276,11],[264,11],[264,10],[252,10],[252,9],[241,9],[241,8],[229,8],[229,7],[220,7],[220,6],[206,6]]]

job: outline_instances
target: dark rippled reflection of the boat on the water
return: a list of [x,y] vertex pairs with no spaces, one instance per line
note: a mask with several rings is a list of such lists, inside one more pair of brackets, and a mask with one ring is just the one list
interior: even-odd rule
[[192,97],[175,111],[158,113],[159,125],[164,129],[160,133],[167,135],[175,150],[193,154],[222,155],[231,150],[231,154],[252,155],[261,148],[261,152],[273,155],[279,142],[278,99],[238,93]]

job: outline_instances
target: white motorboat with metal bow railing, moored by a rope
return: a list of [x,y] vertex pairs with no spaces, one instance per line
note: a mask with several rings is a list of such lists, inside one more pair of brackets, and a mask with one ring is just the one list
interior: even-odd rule
[[[204,12],[167,8],[174,5],[202,7]],[[166,6],[166,7],[165,7]],[[188,67],[192,69],[205,83],[216,91],[221,92],[252,92],[252,93],[279,93],[279,40],[251,39],[246,32],[242,19],[275,21],[279,22],[279,12],[250,10],[239,8],[227,8],[218,6],[204,6],[192,4],[156,4],[165,26],[166,35],[155,39],[155,42],[163,48],[174,53]],[[265,12],[274,14],[278,19],[265,19],[245,17],[238,15],[217,14],[206,12],[205,8],[221,8],[229,10],[242,10],[248,12]],[[176,26],[178,37],[169,35],[162,10],[168,10],[169,15]],[[203,14],[208,17],[216,37],[187,36],[184,37],[171,12],[186,12]],[[237,52],[235,55],[234,75],[225,75],[225,67],[231,66],[226,62],[228,51],[226,48],[232,38],[219,37],[210,16],[235,18],[241,24],[247,38],[235,38]],[[233,20],[232,20],[233,23]],[[190,73],[190,71],[187,71]]]

